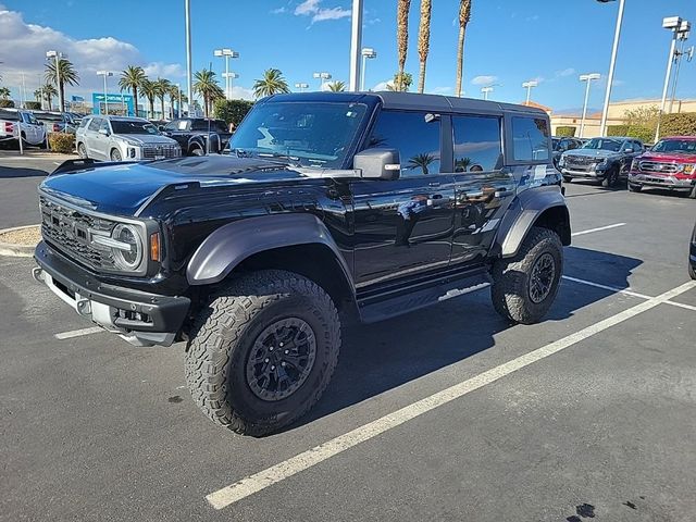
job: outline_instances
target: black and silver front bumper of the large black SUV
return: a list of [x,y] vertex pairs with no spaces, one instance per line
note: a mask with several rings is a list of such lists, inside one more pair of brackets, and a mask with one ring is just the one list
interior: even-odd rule
[[190,307],[187,297],[161,296],[102,283],[41,241],[34,278],[79,315],[135,346],[170,346]]

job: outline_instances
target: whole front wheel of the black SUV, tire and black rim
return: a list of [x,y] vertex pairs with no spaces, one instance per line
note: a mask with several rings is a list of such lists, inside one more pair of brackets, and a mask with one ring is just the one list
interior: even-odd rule
[[319,400],[339,348],[338,312],[320,286],[291,272],[260,271],[231,281],[199,313],[186,381],[215,424],[265,435]]

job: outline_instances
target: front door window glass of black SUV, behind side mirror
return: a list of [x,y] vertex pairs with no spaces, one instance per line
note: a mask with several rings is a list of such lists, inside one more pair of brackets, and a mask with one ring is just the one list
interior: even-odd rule
[[402,176],[439,172],[439,119],[430,123],[424,112],[382,111],[368,147],[397,149]]

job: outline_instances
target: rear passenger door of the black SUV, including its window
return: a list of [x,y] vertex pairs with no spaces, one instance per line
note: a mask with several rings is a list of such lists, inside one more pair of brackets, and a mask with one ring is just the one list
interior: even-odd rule
[[500,219],[515,194],[504,169],[502,116],[451,116],[455,179],[452,264],[477,263],[487,254]]

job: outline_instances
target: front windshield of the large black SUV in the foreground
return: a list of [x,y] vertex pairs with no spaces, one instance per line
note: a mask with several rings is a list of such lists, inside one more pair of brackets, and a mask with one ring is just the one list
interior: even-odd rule
[[261,103],[233,135],[237,154],[283,157],[304,166],[340,169],[365,113],[362,103]]

